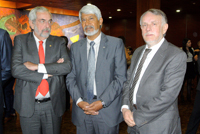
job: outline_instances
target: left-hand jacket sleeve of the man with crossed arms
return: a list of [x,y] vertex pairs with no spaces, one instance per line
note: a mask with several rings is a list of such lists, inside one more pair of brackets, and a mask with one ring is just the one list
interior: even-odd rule
[[28,82],[38,82],[40,83],[43,74],[37,71],[31,71],[26,68],[23,64],[23,50],[22,45],[26,42],[22,42],[19,36],[14,39],[14,49],[12,54],[12,75],[17,79],[21,79]]

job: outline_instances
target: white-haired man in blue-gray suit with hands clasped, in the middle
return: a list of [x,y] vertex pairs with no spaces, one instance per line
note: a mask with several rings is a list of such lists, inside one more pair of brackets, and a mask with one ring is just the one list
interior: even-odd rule
[[103,19],[94,5],[79,11],[84,38],[71,46],[72,72],[66,79],[73,99],[72,122],[77,134],[117,134],[126,80],[122,40],[101,32]]

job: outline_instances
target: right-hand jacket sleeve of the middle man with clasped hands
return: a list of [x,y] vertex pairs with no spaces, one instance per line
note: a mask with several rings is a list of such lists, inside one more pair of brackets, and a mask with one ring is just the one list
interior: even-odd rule
[[114,63],[114,79],[99,96],[106,106],[109,106],[122,93],[123,84],[126,81],[126,55],[122,40],[115,48]]

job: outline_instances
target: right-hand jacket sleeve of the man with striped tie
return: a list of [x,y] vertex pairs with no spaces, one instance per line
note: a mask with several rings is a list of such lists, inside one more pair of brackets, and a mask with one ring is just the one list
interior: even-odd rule
[[186,59],[183,52],[174,55],[166,66],[159,95],[133,112],[133,118],[138,127],[162,115],[177,99],[186,71]]

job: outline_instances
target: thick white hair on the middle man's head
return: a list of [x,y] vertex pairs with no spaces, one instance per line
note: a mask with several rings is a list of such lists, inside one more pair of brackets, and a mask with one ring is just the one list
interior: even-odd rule
[[97,16],[98,20],[100,18],[102,18],[101,11],[95,5],[85,5],[81,8],[81,10],[79,11],[80,22],[82,21],[81,20],[82,13],[84,13],[84,14],[95,14]]

